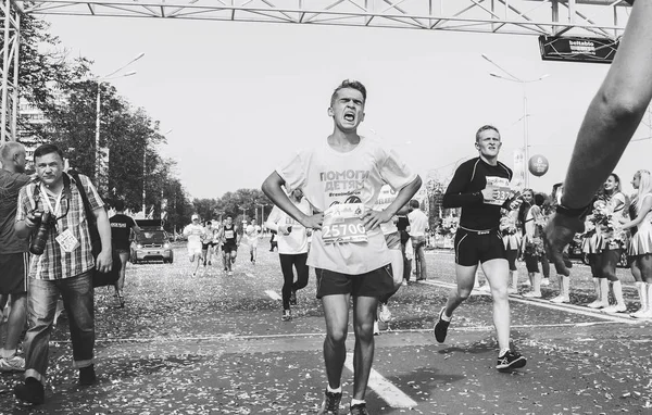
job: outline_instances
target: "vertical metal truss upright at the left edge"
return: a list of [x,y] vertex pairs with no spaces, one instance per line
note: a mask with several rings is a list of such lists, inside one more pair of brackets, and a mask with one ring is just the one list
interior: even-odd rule
[[0,146],[17,138],[18,118],[18,51],[21,45],[21,14],[12,0],[2,3],[2,53]]

